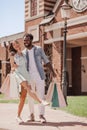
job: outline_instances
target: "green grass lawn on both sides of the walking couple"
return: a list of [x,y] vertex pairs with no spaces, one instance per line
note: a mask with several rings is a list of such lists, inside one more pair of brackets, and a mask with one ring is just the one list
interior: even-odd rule
[[[19,99],[7,100],[3,94],[0,94],[0,103],[18,103]],[[68,106],[59,108],[73,115],[87,117],[87,96],[68,96]],[[27,103],[27,99],[26,99]]]

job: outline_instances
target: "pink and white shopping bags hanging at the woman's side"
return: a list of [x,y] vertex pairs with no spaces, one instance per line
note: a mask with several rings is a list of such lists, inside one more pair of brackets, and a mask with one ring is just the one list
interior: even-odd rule
[[5,95],[7,99],[19,98],[19,86],[17,84],[14,73],[9,73],[6,76],[4,82],[2,83],[0,91]]

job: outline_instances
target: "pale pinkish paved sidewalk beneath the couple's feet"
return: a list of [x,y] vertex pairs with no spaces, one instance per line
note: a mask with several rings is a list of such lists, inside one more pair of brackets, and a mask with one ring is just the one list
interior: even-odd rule
[[[73,116],[61,110],[46,106],[47,123],[41,124],[38,118],[38,106],[35,105],[35,122],[19,125],[16,120],[17,104],[0,104],[0,130],[87,130],[87,118]],[[28,117],[28,105],[25,104],[22,118]]]

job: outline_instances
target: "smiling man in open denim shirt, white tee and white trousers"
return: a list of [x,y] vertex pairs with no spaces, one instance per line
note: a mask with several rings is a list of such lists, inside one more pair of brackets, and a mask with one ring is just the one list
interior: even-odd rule
[[[27,59],[27,70],[29,71],[31,80],[34,80],[36,92],[41,99],[44,99],[45,95],[45,73],[43,69],[42,61],[45,63],[47,67],[52,72],[52,75],[55,77],[56,74],[48,60],[47,56],[45,55],[43,49],[40,46],[36,46],[32,44],[33,35],[32,34],[25,34],[24,36],[24,45],[25,49],[23,53],[26,55]],[[32,88],[34,89],[34,88]],[[29,109],[30,109],[30,120],[34,121],[34,103],[31,97],[29,97]],[[44,117],[45,108],[43,105],[39,105],[39,118],[42,123],[46,122]]]

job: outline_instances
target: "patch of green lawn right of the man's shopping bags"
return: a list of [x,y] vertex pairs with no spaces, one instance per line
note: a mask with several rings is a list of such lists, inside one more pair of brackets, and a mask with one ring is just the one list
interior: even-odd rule
[[73,115],[87,117],[87,96],[69,96],[68,106],[63,108]]

